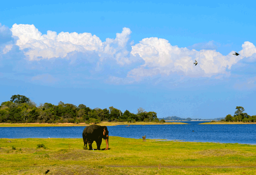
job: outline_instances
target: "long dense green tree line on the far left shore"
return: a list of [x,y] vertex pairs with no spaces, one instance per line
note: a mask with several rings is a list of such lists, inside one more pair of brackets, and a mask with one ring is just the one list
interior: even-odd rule
[[138,113],[124,113],[110,106],[108,109],[86,107],[84,104],[78,106],[73,104],[52,105],[51,103],[40,103],[39,106],[29,98],[22,95],[13,95],[10,101],[1,103],[0,123],[99,123],[100,121],[119,122],[165,122],[157,118],[155,112],[146,112],[143,108]]

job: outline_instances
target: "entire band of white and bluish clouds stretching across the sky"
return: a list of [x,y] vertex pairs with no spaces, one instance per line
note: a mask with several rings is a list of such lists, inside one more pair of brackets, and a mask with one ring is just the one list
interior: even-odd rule
[[[42,34],[34,25],[14,24],[9,29],[0,24],[0,54],[3,61],[13,52],[14,47],[19,47],[26,58],[27,69],[40,70],[40,64],[53,72],[53,67],[56,66],[51,64],[60,64],[63,60],[66,66],[63,69],[73,66],[72,69],[79,69],[80,74],[87,71],[84,77],[98,75],[98,72],[103,74],[103,79],[107,82],[116,84],[132,84],[152,77],[166,77],[170,80],[170,77],[177,75],[190,78],[213,76],[221,79],[223,76],[230,76],[232,65],[239,60],[256,60],[256,48],[249,41],[244,42],[242,50],[236,51],[240,54],[236,56],[233,55],[235,51],[228,55],[216,52],[214,41],[194,44],[191,50],[172,46],[168,40],[156,37],[144,38],[134,45],[131,33],[129,28],[124,27],[121,33],[116,33],[115,39],[107,38],[102,42],[91,33],[57,34],[47,31],[47,34]],[[196,51],[194,48],[201,50]],[[58,61],[55,62],[56,60]],[[198,62],[196,66],[193,64],[195,60]],[[51,71],[43,70],[31,77],[31,81],[40,80],[52,83],[61,78],[51,75]]]

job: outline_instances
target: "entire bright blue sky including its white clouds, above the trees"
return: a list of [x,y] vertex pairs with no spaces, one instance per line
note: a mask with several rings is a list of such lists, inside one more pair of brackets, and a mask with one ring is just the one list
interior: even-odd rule
[[255,115],[255,5],[5,1],[0,102],[20,94],[158,118],[225,117],[236,106]]

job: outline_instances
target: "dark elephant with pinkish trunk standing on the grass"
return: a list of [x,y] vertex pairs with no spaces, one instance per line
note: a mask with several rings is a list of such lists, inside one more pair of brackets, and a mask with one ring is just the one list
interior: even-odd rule
[[84,146],[86,145],[87,148],[87,143],[89,143],[89,150],[92,150],[93,141],[96,142],[97,149],[100,150],[102,138],[106,140],[107,148],[105,150],[108,150],[108,128],[106,126],[90,125],[84,128]]

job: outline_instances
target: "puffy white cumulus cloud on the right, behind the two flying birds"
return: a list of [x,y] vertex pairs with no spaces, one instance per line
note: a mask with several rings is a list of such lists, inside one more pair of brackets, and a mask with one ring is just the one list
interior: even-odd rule
[[[229,73],[226,69],[231,69],[244,56],[251,56],[256,53],[255,46],[246,41],[242,45],[243,50],[240,55],[233,55],[234,51],[224,56],[216,50],[189,50],[172,46],[168,40],[161,38],[144,38],[139,44],[132,46],[132,55],[140,56],[145,64],[139,68],[132,69],[128,77],[154,76],[156,74],[166,74],[169,76],[173,72],[182,72],[192,77],[211,77],[217,74]],[[198,64],[195,66],[195,60]]]

